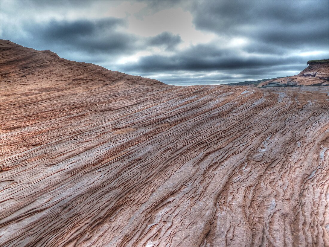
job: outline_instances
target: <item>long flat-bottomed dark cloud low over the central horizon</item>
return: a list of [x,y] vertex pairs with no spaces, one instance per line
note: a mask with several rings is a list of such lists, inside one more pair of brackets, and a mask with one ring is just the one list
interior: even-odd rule
[[[299,63],[299,57],[249,56],[243,57],[239,52],[218,49],[215,44],[196,45],[176,52],[173,56],[152,55],[141,58],[136,63],[126,65],[129,71],[209,71],[217,69],[238,70],[240,68],[268,67],[282,63]],[[304,61],[304,64],[306,62]]]

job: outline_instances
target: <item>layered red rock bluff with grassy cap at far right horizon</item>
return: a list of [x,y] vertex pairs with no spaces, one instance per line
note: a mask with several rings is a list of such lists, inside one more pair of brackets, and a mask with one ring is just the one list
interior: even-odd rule
[[328,62],[311,62],[298,75],[271,79],[260,83],[261,87],[289,87],[289,86],[328,86],[329,85],[329,60]]

